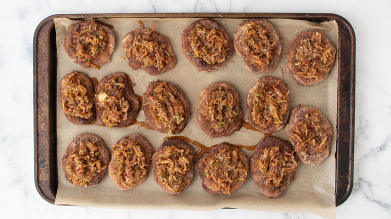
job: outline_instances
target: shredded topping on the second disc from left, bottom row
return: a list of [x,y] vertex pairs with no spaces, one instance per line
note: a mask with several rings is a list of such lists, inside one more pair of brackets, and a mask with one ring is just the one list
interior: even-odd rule
[[113,155],[117,156],[118,179],[128,188],[136,186],[146,176],[149,166],[137,141],[125,139],[114,144],[112,149]]

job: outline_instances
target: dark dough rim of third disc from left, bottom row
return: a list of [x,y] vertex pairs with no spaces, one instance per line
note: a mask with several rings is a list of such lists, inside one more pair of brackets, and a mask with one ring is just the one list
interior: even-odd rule
[[153,153],[152,155],[152,171],[153,171],[153,176],[155,178],[156,183],[165,191],[168,191],[173,194],[178,194],[182,191],[184,191],[190,184],[194,176],[194,159],[190,159],[189,163],[189,169],[185,172],[183,175],[183,181],[188,181],[189,183],[184,184],[183,187],[178,191],[178,192],[172,192],[166,185],[162,184],[159,182],[159,175],[156,173],[157,172],[157,161],[159,158],[162,157],[163,155],[163,149],[165,146],[170,146],[174,145],[180,149],[183,150],[189,150],[189,154],[194,157],[194,151],[193,148],[188,145],[185,141],[183,140],[178,140],[178,139],[166,139],[164,142],[160,145],[160,147],[156,150],[156,152]]

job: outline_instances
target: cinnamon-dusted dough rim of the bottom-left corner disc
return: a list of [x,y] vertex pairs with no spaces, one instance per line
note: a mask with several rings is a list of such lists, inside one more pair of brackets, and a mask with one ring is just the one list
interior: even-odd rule
[[[62,168],[63,168],[64,174],[65,174],[65,178],[70,183],[72,183],[72,180],[69,179],[70,173],[68,173],[66,170],[68,156],[69,156],[69,154],[72,153],[72,151],[74,150],[75,147],[79,146],[80,142],[86,143],[87,141],[93,143],[95,146],[99,146],[99,148],[98,148],[99,155],[97,158],[101,160],[101,165],[107,166],[109,164],[110,152],[107,149],[107,146],[106,146],[105,142],[103,141],[103,139],[94,135],[94,134],[90,134],[90,133],[79,134],[75,138],[73,138],[72,142],[67,146],[67,148],[65,149],[63,158],[62,158]],[[106,175],[106,171],[107,171],[107,168],[103,171],[100,171],[94,178],[92,178],[89,182],[87,182],[86,186],[91,187],[91,186],[99,184],[100,181],[102,181],[102,179]]]

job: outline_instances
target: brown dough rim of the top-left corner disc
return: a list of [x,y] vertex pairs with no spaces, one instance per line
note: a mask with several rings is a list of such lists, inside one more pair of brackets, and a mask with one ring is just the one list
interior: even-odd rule
[[[82,20],[80,22],[77,22],[69,26],[64,40],[64,49],[69,55],[69,57],[71,57],[76,63],[80,64],[83,67],[92,67],[92,66],[88,64],[87,61],[82,61],[77,58],[76,49],[72,46],[73,31],[77,31],[81,27],[88,25],[89,22],[91,21]],[[106,36],[108,37],[106,48],[103,51],[101,51],[95,58],[91,59],[92,64],[96,66],[101,66],[102,64],[110,61],[111,54],[113,53],[115,47],[115,35],[114,32],[108,26],[103,25],[99,22],[97,22],[97,28],[103,29],[103,31],[106,33]]]

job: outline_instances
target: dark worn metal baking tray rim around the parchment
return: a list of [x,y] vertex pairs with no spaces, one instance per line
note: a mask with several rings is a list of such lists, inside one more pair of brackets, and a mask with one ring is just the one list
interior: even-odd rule
[[54,204],[58,186],[56,86],[57,49],[54,18],[286,18],[338,24],[338,100],[335,169],[335,205],[343,203],[353,186],[355,35],[350,23],[332,13],[113,13],[57,14],[37,26],[34,34],[34,171],[39,194]]

